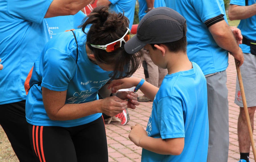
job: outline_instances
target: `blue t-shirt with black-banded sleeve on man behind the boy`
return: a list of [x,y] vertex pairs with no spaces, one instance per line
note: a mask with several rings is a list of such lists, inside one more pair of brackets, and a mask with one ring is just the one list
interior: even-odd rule
[[187,20],[187,55],[205,75],[226,70],[228,51],[220,48],[204,22],[220,14],[227,22],[223,0],[169,0],[166,7]]

